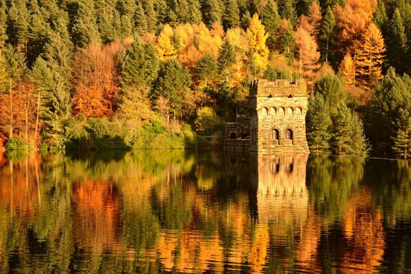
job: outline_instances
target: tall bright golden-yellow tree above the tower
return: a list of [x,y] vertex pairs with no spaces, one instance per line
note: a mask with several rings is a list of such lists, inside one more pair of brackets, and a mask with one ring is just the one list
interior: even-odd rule
[[264,25],[262,25],[258,14],[254,14],[251,23],[247,28],[247,37],[249,45],[253,51],[253,62],[256,65],[256,73],[262,75],[269,63],[269,48],[266,46],[266,34]]

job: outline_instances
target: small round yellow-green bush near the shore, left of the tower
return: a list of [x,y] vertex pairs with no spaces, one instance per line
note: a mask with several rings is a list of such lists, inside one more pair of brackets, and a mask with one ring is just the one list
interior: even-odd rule
[[210,107],[199,108],[195,119],[197,132],[204,135],[212,135],[220,129],[221,121],[216,112]]

